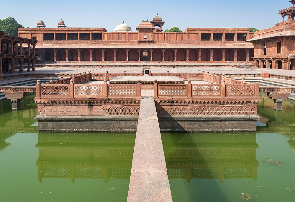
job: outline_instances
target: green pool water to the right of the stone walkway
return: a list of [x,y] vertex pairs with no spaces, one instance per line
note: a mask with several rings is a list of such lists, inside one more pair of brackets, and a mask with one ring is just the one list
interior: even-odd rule
[[257,132],[162,133],[173,201],[295,201],[295,102],[261,98]]

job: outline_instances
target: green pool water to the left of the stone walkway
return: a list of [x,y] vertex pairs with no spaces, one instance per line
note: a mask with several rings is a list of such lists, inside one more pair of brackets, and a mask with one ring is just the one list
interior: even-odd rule
[[38,133],[34,97],[0,101],[0,201],[126,201],[136,133]]

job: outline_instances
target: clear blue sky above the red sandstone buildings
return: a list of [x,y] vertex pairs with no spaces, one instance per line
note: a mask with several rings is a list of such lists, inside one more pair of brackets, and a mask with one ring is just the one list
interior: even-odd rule
[[[142,19],[158,13],[163,29],[179,27],[255,27],[281,22],[278,11],[292,6],[289,0],[0,0],[0,19],[14,17],[24,27],[35,27],[42,18],[47,27],[60,19],[68,27],[104,27],[112,32],[122,23],[136,31]],[[13,12],[12,12],[13,11]],[[28,12],[29,11],[29,12]]]

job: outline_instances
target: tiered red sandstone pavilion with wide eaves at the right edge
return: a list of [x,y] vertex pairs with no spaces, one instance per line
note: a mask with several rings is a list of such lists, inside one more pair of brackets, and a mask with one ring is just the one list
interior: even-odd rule
[[295,0],[290,2],[292,7],[279,11],[283,22],[254,32],[254,38],[246,41],[255,46],[256,67],[295,70]]

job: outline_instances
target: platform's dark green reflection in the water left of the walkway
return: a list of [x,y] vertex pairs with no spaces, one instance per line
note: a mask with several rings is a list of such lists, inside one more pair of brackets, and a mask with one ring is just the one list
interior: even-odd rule
[[129,179],[135,133],[39,133],[38,178]]

